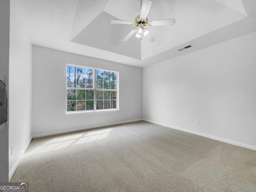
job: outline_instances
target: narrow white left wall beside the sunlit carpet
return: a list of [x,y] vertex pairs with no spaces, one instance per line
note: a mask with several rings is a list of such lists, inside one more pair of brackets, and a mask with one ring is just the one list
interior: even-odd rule
[[9,178],[32,136],[32,45],[15,3],[13,0],[10,3]]

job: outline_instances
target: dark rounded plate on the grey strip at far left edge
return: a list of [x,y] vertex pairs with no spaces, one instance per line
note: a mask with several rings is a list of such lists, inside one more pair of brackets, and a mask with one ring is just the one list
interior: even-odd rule
[[0,125],[7,120],[7,94],[4,82],[0,81]]

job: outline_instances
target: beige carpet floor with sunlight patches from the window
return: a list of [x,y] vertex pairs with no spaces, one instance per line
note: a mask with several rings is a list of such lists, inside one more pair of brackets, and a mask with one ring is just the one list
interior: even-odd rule
[[33,139],[30,192],[255,192],[256,151],[140,121]]

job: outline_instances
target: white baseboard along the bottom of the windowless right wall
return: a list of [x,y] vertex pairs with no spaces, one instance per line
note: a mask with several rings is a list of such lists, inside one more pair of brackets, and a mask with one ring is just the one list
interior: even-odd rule
[[184,128],[180,128],[180,127],[176,127],[176,126],[171,126],[171,125],[167,125],[167,124],[160,123],[160,122],[155,122],[155,121],[148,120],[148,119],[143,119],[143,120],[146,121],[146,122],[162,125],[162,126],[165,126],[165,127],[169,127],[169,128],[172,128],[172,129],[176,129],[176,130],[180,130],[180,131],[184,131],[184,132],[188,132],[188,133],[192,133],[192,134],[196,134],[196,135],[199,135],[199,136],[203,136],[203,137],[206,137],[206,138],[210,138],[210,139],[214,139],[214,140],[217,140],[217,141],[225,142],[225,143],[228,143],[228,144],[232,144],[232,145],[236,145],[236,146],[256,150],[256,146],[253,146],[253,145],[248,145],[248,144],[245,144],[245,143],[240,143],[240,142],[228,140],[228,139],[225,139],[225,138],[220,138],[220,137],[216,137],[216,136],[212,136],[212,135],[208,135],[208,134],[204,134],[204,133],[200,133],[200,132],[196,132],[196,131],[192,131],[192,130],[188,130],[188,129],[184,129]]

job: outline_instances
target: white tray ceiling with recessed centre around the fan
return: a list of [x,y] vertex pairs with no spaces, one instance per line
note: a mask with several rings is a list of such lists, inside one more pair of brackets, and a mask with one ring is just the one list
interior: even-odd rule
[[[147,26],[155,37],[132,36],[138,0],[14,0],[32,44],[144,67],[256,31],[256,0],[152,0],[148,20],[176,19],[174,26]],[[191,48],[178,51],[187,45]]]

